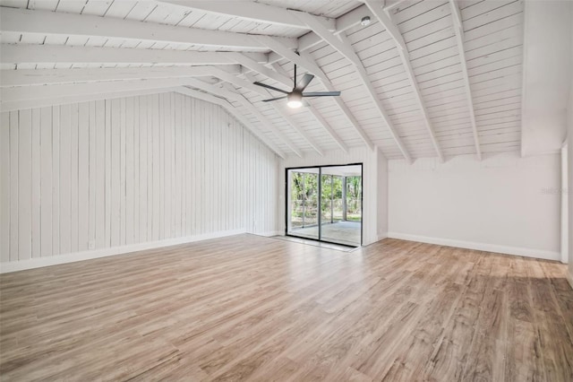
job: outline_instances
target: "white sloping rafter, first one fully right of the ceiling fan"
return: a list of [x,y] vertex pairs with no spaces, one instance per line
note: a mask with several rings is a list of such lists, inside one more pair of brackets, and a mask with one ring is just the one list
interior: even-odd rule
[[352,65],[355,66],[356,72],[358,73],[361,81],[363,82],[363,85],[366,87],[366,91],[368,95],[371,97],[372,101],[374,102],[376,109],[379,111],[382,119],[388,126],[390,135],[392,136],[392,138],[394,138],[394,142],[398,145],[398,149],[400,150],[400,152],[402,152],[402,155],[404,156],[406,161],[408,163],[411,163],[412,157],[410,156],[410,153],[407,151],[406,145],[402,142],[402,139],[398,135],[398,130],[396,126],[394,126],[392,120],[389,118],[386,109],[384,109],[384,106],[382,105],[382,102],[378,97],[378,94],[374,90],[372,82],[370,82],[368,74],[366,74],[366,69],[364,69],[362,61],[356,55],[354,48],[352,48],[352,45],[350,44],[348,39],[346,39],[346,33],[340,33],[338,34],[337,37],[333,33],[329,32],[329,30],[324,28],[324,25],[322,25],[320,21],[314,19],[312,15],[300,12],[296,12],[296,14],[298,15],[298,17],[301,18],[302,21],[306,22],[309,25],[309,27],[312,29],[312,31],[314,31],[314,33],[318,34],[322,39],[327,41],[332,46],[332,48],[337,49],[342,56],[345,56],[346,59],[350,61]]

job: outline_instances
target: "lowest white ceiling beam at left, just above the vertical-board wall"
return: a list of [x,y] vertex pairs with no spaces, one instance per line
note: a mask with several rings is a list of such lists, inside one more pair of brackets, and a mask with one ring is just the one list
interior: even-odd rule
[[21,109],[45,108],[69,103],[88,102],[90,100],[112,100],[115,98],[134,97],[138,95],[158,94],[172,91],[171,88],[141,89],[135,91],[110,91],[98,94],[66,95],[63,97],[50,97],[40,100],[14,100],[3,101],[0,111],[13,111]]

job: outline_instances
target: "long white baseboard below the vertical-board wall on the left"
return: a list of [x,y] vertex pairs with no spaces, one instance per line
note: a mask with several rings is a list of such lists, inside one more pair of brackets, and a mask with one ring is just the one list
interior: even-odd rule
[[224,231],[206,233],[203,235],[187,236],[184,238],[150,241],[147,243],[132,244],[129,246],[94,249],[89,251],[75,252],[72,254],[38,257],[38,258],[31,258],[30,260],[15,261],[11,263],[1,263],[0,273],[17,272],[26,269],[40,268],[42,266],[61,265],[66,263],[73,263],[76,261],[90,260],[98,257],[123,255],[131,252],[143,251],[146,249],[171,247],[171,246],[176,246],[178,244],[192,243],[193,241],[201,241],[207,239],[223,238],[226,236],[238,235],[245,232],[246,230],[244,229],[224,230]]

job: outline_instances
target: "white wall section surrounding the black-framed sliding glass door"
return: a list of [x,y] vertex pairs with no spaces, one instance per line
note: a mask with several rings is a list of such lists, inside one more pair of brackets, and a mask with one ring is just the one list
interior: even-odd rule
[[304,158],[291,158],[280,161],[279,171],[279,201],[278,201],[278,233],[285,233],[285,169],[292,167],[322,166],[329,164],[363,163],[363,245],[378,241],[378,156],[367,147],[349,150],[349,153],[339,150],[326,152],[324,156],[307,153]]

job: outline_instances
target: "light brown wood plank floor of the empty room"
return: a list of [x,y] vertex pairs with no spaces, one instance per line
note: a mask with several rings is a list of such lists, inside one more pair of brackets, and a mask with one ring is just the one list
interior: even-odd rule
[[240,235],[0,276],[9,380],[573,380],[555,262]]

